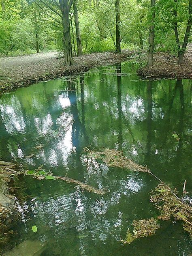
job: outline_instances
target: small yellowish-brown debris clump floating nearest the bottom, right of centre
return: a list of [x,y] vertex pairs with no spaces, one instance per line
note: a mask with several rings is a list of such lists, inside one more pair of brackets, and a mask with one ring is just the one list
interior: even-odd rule
[[132,226],[133,233],[127,230],[126,238],[122,240],[124,244],[130,244],[137,238],[151,236],[160,228],[158,220],[154,218],[134,220]]

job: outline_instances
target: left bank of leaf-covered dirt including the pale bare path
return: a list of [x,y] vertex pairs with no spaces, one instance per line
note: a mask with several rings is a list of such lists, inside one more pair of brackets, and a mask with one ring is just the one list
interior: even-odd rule
[[1,58],[0,92],[38,81],[49,80],[66,75],[85,72],[92,67],[113,64],[136,54],[134,51],[123,51],[122,54],[105,52],[75,57],[75,67],[63,66],[63,58],[56,52],[32,54],[20,57]]

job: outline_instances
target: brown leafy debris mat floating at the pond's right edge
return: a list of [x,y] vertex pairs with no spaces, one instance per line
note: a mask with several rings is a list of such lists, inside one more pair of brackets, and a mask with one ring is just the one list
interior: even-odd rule
[[[174,192],[177,194],[176,189]],[[160,210],[161,215],[158,219],[168,220],[173,216],[177,220],[182,220],[184,230],[192,237],[192,207],[189,204],[173,196],[171,189],[162,183],[152,190],[150,201],[154,202],[155,207]]]

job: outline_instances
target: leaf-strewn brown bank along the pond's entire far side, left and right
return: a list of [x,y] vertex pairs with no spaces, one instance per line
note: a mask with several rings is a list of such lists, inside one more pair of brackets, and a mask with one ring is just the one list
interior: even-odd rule
[[[34,54],[35,55],[35,54]],[[50,58],[36,60],[36,57],[23,56],[23,62],[19,58],[9,58],[0,68],[0,94],[7,90],[14,90],[19,87],[29,86],[36,82],[52,80],[63,76],[77,75],[84,73],[91,68],[113,65],[126,60],[134,59],[143,63],[137,74],[143,80],[159,79],[192,79],[192,47],[185,54],[184,64],[177,63],[177,56],[165,52],[154,54],[154,66],[148,67],[147,53],[145,51],[124,50],[121,54],[114,52],[93,53],[75,57],[77,65],[73,67],[63,66],[63,58],[55,54]],[[32,61],[29,61],[30,58]],[[11,65],[10,65],[11,63]]]

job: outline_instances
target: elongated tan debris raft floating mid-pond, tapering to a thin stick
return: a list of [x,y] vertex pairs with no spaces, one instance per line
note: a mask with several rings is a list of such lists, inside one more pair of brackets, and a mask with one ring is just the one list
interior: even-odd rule
[[151,173],[146,166],[141,166],[138,163],[134,163],[132,160],[124,157],[122,151],[109,148],[104,148],[102,151],[90,151],[88,148],[85,148],[85,151],[95,159],[102,159],[102,161],[106,163],[107,166],[127,168],[134,172]]

